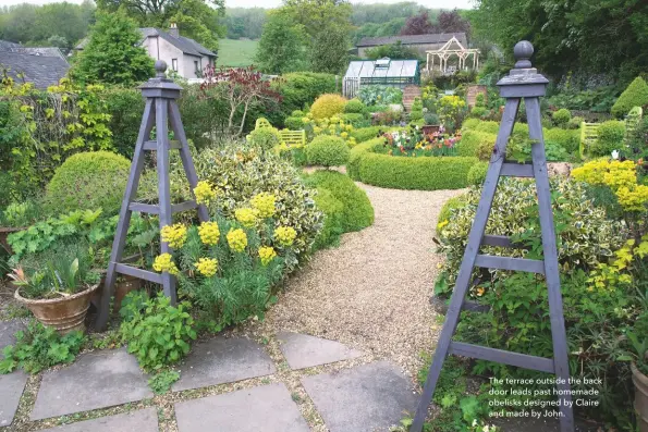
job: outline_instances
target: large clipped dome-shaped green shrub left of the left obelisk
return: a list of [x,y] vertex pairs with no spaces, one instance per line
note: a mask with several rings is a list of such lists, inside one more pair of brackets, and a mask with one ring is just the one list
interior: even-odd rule
[[76,153],[54,172],[45,193],[45,206],[52,214],[73,210],[96,210],[105,214],[120,209],[131,162],[109,151]]

